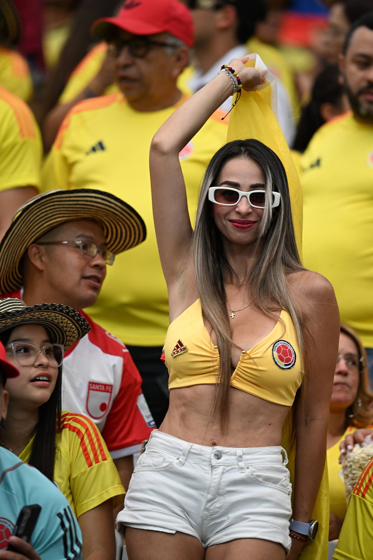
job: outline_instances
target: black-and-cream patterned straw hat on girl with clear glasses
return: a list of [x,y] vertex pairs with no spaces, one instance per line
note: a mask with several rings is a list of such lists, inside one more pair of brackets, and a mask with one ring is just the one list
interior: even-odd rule
[[0,300],[0,333],[20,325],[44,326],[52,342],[65,350],[86,335],[88,321],[72,307],[61,304],[37,304],[29,307],[16,297]]

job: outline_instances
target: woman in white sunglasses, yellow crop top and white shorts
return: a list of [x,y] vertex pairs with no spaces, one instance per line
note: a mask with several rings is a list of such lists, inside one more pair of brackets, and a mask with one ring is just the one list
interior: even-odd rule
[[[245,61],[229,66],[253,90],[264,78]],[[300,263],[284,167],[261,142],[228,143],[207,167],[194,231],[188,214],[178,153],[232,95],[228,72],[150,150],[170,407],[117,517],[130,560],[292,560],[317,528],[339,317],[329,282]],[[280,442],[297,393],[292,509]]]

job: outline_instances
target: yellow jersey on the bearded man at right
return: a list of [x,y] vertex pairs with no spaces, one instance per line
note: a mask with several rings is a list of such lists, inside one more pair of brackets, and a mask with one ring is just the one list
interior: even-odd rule
[[373,347],[373,126],[347,113],[324,124],[300,159],[303,262],[327,277],[342,323]]

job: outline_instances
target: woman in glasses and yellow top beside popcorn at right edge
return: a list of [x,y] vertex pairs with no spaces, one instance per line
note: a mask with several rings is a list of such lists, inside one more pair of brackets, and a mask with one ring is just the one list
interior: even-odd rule
[[338,463],[339,446],[357,428],[371,426],[372,403],[373,394],[369,389],[365,349],[357,334],[347,325],[341,325],[327,436],[330,492],[329,540],[338,539],[347,511],[342,468]]

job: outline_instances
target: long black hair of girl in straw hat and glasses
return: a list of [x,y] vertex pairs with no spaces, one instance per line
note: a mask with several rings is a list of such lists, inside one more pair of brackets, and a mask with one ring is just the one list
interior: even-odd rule
[[[0,341],[6,346],[13,329],[0,333]],[[51,342],[55,342],[48,329]],[[49,400],[39,407],[39,419],[36,424],[34,445],[29,459],[29,464],[53,480],[54,456],[56,450],[56,428],[61,426],[62,410],[62,366],[58,368],[58,376],[53,393]]]

